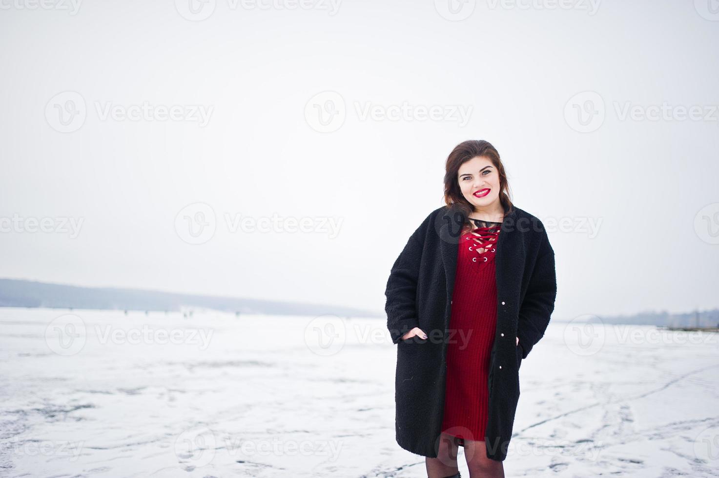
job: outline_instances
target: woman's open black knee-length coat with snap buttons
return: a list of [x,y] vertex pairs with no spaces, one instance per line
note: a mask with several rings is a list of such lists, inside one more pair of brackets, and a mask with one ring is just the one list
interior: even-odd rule
[[[397,443],[433,458],[444,418],[446,344],[457,340],[449,321],[463,223],[456,208],[432,211],[395,261],[385,290],[387,326],[397,344]],[[487,382],[489,418],[487,436],[474,439],[485,441],[490,459],[503,461],[519,399],[519,366],[544,336],[554,311],[557,279],[544,225],[520,208],[505,213],[495,249],[497,333]],[[425,331],[427,339],[400,341],[414,327]]]

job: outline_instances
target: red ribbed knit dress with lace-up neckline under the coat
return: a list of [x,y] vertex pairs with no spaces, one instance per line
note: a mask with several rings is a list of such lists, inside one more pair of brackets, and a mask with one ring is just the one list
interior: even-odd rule
[[501,223],[480,221],[459,239],[446,357],[442,431],[485,441],[490,353],[497,329],[495,245]]

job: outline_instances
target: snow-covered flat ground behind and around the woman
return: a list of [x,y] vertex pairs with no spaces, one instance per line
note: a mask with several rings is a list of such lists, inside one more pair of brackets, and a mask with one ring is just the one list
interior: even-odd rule
[[[426,477],[395,443],[381,320],[0,308],[0,325],[0,474]],[[551,323],[505,473],[719,476],[718,337]]]

